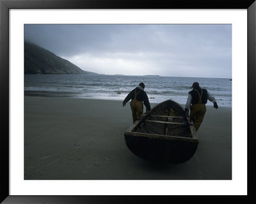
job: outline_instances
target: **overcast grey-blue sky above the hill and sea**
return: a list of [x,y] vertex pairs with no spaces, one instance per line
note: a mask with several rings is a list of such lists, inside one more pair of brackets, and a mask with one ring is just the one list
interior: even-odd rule
[[98,74],[232,76],[231,24],[27,24],[24,38]]

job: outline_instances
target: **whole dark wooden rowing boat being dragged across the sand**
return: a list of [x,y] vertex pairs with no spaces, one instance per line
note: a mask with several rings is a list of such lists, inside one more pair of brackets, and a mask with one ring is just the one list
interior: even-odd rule
[[193,157],[198,136],[184,107],[173,100],[161,102],[143,114],[124,133],[132,153],[143,159],[179,164]]

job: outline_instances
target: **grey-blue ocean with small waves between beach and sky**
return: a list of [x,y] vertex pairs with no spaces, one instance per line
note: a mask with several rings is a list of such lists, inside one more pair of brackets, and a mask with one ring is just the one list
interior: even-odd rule
[[[124,100],[140,82],[144,82],[150,103],[172,99],[186,104],[193,82],[199,82],[215,98],[219,106],[232,107],[232,81],[220,78],[163,77],[157,75],[76,75],[26,74],[24,93],[29,96],[76,97]],[[213,106],[207,102],[207,106]]]

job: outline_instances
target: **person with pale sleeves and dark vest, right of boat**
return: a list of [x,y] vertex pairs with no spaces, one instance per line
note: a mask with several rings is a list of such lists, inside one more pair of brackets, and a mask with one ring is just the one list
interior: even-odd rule
[[209,91],[200,88],[198,82],[193,82],[191,88],[193,88],[193,90],[189,91],[188,94],[188,100],[185,106],[185,115],[189,113],[190,107],[190,120],[194,123],[195,130],[197,132],[204,120],[204,115],[206,112],[205,104],[207,103],[207,100],[213,102],[213,107],[216,109],[218,109],[218,104]]

